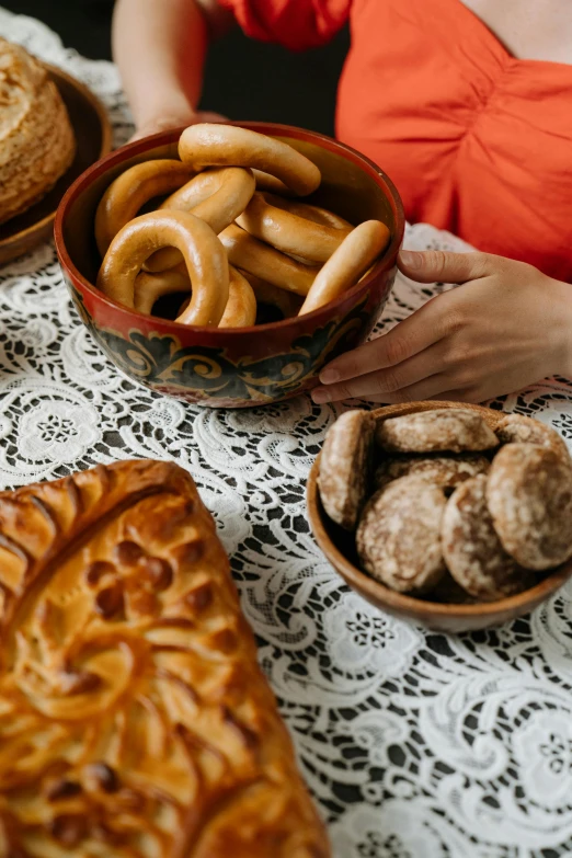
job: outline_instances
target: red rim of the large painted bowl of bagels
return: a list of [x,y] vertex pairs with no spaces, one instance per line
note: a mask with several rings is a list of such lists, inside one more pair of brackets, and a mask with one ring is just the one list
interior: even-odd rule
[[[335,301],[330,301],[330,304],[327,304],[323,307],[319,307],[317,310],[307,313],[305,317],[296,316],[293,319],[282,319],[281,321],[277,322],[266,322],[265,324],[251,325],[250,328],[207,328],[206,325],[181,324],[180,322],[171,321],[169,319],[158,318],[159,322],[168,325],[169,328],[173,328],[175,330],[182,329],[185,331],[193,331],[193,332],[208,331],[213,336],[216,336],[218,333],[225,336],[226,339],[228,336],[240,336],[244,333],[252,334],[256,332],[276,330],[277,328],[286,328],[290,324],[299,322],[302,318],[314,319],[316,321],[319,321],[321,316],[323,316],[324,318],[329,317],[332,309],[336,307],[341,307],[345,301],[352,300],[356,298],[358,295],[365,293],[367,290],[367,287],[371,283],[371,281],[378,274],[380,274],[384,270],[388,267],[392,267],[392,265],[388,266],[388,259],[391,258],[392,255],[397,255],[397,251],[401,245],[401,242],[403,240],[403,233],[405,230],[405,216],[403,211],[403,204],[401,202],[401,197],[398,193],[396,185],[389,179],[389,176],[387,176],[386,173],[384,173],[384,171],[379,167],[377,167],[377,164],[374,163],[374,161],[371,161],[365,155],[358,152],[356,149],[352,149],[351,146],[346,146],[345,144],[339,142],[338,140],[334,140],[333,138],[328,137],[327,135],[319,134],[318,131],[304,130],[302,128],[296,128],[295,126],[291,125],[278,125],[275,123],[264,123],[264,122],[231,122],[231,123],[227,123],[227,125],[237,125],[239,127],[256,130],[260,134],[266,134],[268,136],[283,134],[285,137],[294,137],[295,139],[298,140],[316,142],[317,145],[321,146],[322,149],[328,149],[329,151],[334,152],[335,155],[343,155],[348,161],[352,161],[353,163],[357,164],[359,168],[364,170],[364,172],[368,173],[376,181],[376,183],[382,187],[382,190],[386,193],[386,197],[391,206],[391,211],[394,219],[394,230],[391,236],[391,241],[386,252],[381,256],[381,259],[375,264],[375,266],[371,268],[369,274],[366,277],[364,277],[363,281],[361,281],[352,289],[348,289],[346,293],[344,293]],[[66,191],[66,194],[64,195],[58,206],[56,213],[56,220],[54,224],[54,240],[56,243],[56,250],[58,252],[58,255],[62,261],[62,263],[65,264],[65,266],[69,268],[73,277],[82,284],[83,288],[92,293],[104,304],[110,305],[110,307],[113,307],[116,310],[121,310],[126,316],[129,317],[135,316],[136,318],[145,320],[147,322],[152,317],[138,312],[137,310],[131,309],[129,307],[125,307],[118,301],[108,298],[106,295],[100,291],[93,284],[91,284],[83,276],[83,274],[81,274],[81,272],[78,271],[78,268],[72,263],[68,254],[64,241],[64,218],[67,214],[68,207],[79,196],[79,194],[82,191],[84,191],[85,187],[89,184],[91,184],[91,182],[94,179],[98,179],[100,175],[102,175],[111,165],[113,165],[114,163],[121,163],[125,159],[127,152],[133,156],[142,155],[142,152],[147,151],[148,149],[155,148],[157,146],[175,142],[181,136],[181,134],[184,131],[185,127],[186,126],[182,126],[180,128],[172,128],[171,130],[168,131],[159,131],[158,134],[153,134],[149,137],[144,137],[140,140],[135,140],[134,142],[125,144],[124,146],[121,146],[118,149],[115,149],[110,155],[105,156],[105,158],[102,158],[100,161],[96,161],[94,164],[89,167],[80,176],[78,176],[78,179],[73,182],[73,184],[70,185],[70,187]]]

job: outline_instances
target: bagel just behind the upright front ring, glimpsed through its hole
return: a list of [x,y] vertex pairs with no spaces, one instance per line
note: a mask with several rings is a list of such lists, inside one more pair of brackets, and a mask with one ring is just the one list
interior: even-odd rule
[[[241,215],[256,187],[251,170],[221,167],[198,173],[159,206],[161,209],[191,211],[213,229],[222,232]],[[181,262],[181,254],[164,248],[147,260],[146,271],[164,271]]]

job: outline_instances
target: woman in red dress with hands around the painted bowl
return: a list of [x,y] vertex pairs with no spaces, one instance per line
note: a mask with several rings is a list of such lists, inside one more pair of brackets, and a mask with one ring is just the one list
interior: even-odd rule
[[391,175],[410,220],[484,251],[402,252],[409,277],[462,287],[332,362],[313,399],[474,402],[572,377],[570,0],[118,0],[139,136],[221,118],[196,105],[233,20],[291,49],[350,20],[339,138]]

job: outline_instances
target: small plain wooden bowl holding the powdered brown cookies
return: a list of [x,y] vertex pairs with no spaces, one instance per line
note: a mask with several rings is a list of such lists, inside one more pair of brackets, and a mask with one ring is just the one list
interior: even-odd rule
[[[378,421],[384,421],[388,417],[398,417],[417,411],[433,411],[436,408],[461,408],[478,411],[492,430],[495,430],[502,417],[506,416],[502,411],[458,402],[410,402],[407,405],[380,408],[373,414]],[[322,507],[318,490],[319,468],[320,456],[313,462],[307,484],[308,517],[316,541],[336,572],[353,590],[356,590],[376,607],[396,617],[437,631],[461,632],[487,629],[513,620],[523,614],[528,614],[560,590],[572,575],[572,560],[569,560],[549,572],[536,586],[525,590],[524,593],[478,605],[450,605],[397,593],[362,572],[353,562],[355,557],[353,535],[345,533],[331,522]]]

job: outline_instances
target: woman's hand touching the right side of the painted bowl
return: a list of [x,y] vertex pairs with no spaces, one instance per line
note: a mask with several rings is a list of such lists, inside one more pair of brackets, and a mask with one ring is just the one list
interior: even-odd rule
[[572,377],[572,286],[487,253],[403,251],[419,283],[457,283],[387,334],[332,361],[314,402],[482,402],[556,373]]

